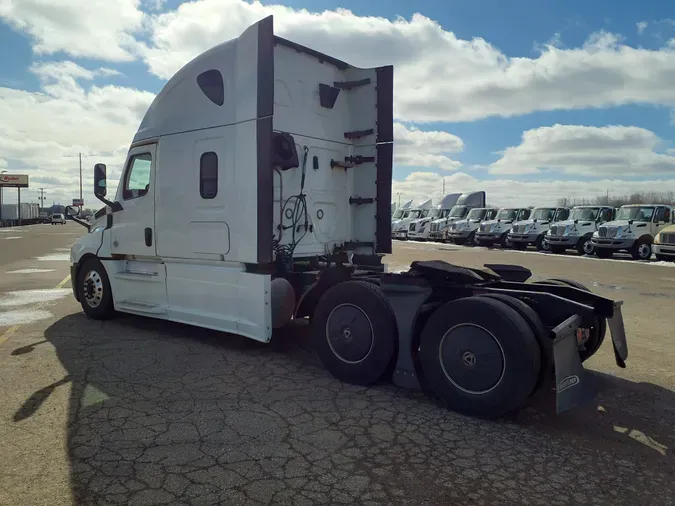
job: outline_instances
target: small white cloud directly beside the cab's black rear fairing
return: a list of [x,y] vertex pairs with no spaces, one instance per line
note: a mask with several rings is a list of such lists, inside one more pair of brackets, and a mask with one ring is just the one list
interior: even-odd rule
[[407,167],[438,167],[457,170],[462,164],[449,154],[464,149],[456,135],[443,131],[423,131],[415,126],[394,123],[394,165]]

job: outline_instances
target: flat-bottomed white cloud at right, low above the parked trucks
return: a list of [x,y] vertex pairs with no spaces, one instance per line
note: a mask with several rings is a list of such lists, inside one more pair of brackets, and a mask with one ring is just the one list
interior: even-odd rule
[[518,146],[490,165],[492,174],[554,170],[590,177],[675,175],[675,157],[655,150],[663,141],[634,126],[553,125],[527,130]]

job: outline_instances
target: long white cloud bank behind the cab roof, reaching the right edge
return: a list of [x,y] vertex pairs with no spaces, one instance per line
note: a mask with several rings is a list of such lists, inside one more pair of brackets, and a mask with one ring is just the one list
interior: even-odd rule
[[195,0],[149,18],[150,70],[168,78],[192,57],[269,14],[275,30],[357,66],[393,63],[396,117],[472,121],[537,110],[629,103],[675,105],[675,52],[635,49],[600,32],[579,48],[546,45],[510,58],[481,38],[462,40],[420,14],[409,20],[313,13],[241,0]]

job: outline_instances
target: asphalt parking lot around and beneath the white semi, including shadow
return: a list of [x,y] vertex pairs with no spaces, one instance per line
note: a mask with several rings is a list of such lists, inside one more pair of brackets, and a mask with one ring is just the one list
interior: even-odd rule
[[300,325],[263,345],[88,320],[68,279],[82,231],[0,229],[0,504],[675,501],[675,264],[396,243],[390,270],[521,263],[625,301],[627,368],[606,341],[586,364],[593,403],[556,416],[544,399],[483,421],[338,382]]

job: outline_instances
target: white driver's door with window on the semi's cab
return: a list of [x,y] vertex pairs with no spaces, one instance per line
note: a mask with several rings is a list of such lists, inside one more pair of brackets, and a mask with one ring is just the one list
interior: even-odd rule
[[136,257],[156,256],[155,166],[156,144],[129,151],[116,200],[122,210],[113,215],[110,251]]

